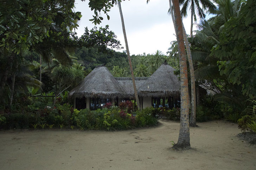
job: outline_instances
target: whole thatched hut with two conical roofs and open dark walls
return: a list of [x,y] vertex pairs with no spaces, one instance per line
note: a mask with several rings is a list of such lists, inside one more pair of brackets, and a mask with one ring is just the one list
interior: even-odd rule
[[[180,81],[174,68],[162,64],[150,77],[135,77],[141,108],[177,107],[180,99]],[[135,99],[132,78],[114,77],[107,67],[97,66],[81,83],[72,89],[69,98],[77,109],[91,110],[111,102]]]

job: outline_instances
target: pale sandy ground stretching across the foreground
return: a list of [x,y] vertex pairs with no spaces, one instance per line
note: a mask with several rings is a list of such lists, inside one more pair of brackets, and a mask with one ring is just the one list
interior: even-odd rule
[[0,169],[255,170],[256,145],[222,120],[190,129],[192,150],[174,151],[179,123],[127,131],[0,131]]

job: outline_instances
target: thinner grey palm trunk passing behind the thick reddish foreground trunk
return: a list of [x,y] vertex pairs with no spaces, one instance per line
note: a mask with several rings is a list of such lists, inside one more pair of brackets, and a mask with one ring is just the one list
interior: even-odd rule
[[[172,8],[172,1],[169,0],[169,5],[170,5],[170,12],[173,20],[173,25],[174,25],[174,30],[176,35],[178,35],[177,31],[177,26],[174,23],[174,16],[173,16],[173,8]],[[193,18],[192,18],[193,19]],[[196,83],[195,83],[195,74],[194,74],[194,66],[193,66],[193,60],[192,60],[192,55],[191,55],[191,50],[190,46],[188,43],[188,38],[186,35],[186,30],[182,22],[182,27],[183,27],[183,37],[185,40],[185,46],[187,49],[187,58],[188,58],[188,63],[189,63],[189,68],[190,68],[190,78],[191,78],[191,119],[190,119],[190,125],[191,126],[196,126]]]

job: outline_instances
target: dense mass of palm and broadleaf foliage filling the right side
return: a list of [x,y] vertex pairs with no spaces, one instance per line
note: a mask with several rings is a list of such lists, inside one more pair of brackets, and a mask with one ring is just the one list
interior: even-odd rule
[[[202,19],[190,38],[195,76],[198,85],[217,93],[215,101],[229,105],[224,117],[236,122],[244,115],[247,99],[255,99],[256,6],[252,0],[216,4],[216,16]],[[206,114],[204,107],[198,108],[199,115]]]

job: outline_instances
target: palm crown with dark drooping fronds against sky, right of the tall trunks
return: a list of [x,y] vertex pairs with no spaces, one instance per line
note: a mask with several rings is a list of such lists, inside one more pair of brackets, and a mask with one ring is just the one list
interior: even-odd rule
[[[209,12],[214,13],[216,11],[216,6],[211,2],[211,0],[180,0],[179,1],[183,7],[181,8],[181,16],[187,16],[187,8],[188,5],[191,4],[191,26],[190,26],[190,35],[193,35],[193,18],[196,21],[196,11],[200,19],[205,18],[205,10],[209,10]],[[201,6],[200,6],[201,5]]]

